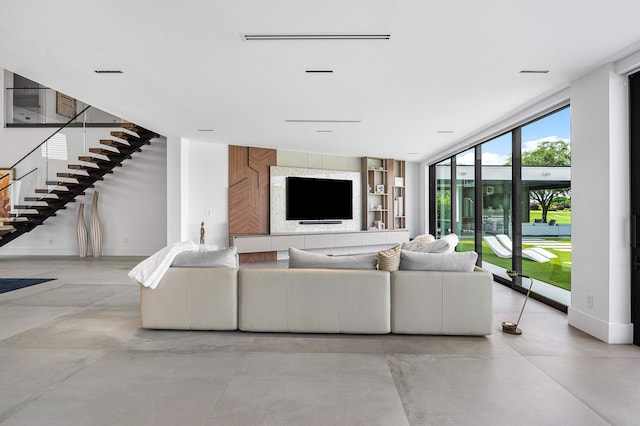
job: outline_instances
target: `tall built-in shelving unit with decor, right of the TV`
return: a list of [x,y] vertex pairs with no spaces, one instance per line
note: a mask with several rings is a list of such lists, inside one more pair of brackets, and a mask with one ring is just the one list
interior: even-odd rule
[[404,161],[362,158],[363,230],[406,228],[404,174]]

